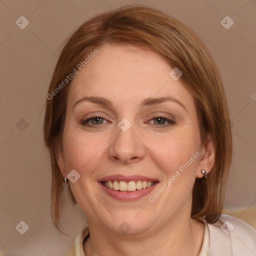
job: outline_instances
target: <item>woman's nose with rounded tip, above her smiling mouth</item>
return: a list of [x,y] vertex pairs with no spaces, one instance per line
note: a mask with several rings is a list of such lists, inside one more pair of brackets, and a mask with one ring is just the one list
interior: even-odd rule
[[145,155],[145,145],[135,134],[133,125],[126,131],[117,126],[117,132],[108,148],[111,160],[129,164],[141,160]]

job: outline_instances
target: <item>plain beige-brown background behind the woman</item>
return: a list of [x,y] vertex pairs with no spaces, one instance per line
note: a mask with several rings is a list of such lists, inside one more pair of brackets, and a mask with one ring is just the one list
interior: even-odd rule
[[[57,49],[94,14],[143,2],[189,25],[212,53],[233,123],[234,159],[225,208],[238,208],[235,214],[242,218],[256,205],[255,0],[0,0],[0,251],[4,255],[63,255],[84,226],[84,218],[68,202],[62,216],[68,235],[57,232],[50,220],[50,165],[42,124]],[[29,21],[24,29],[15,24],[21,15]],[[234,21],[229,29],[220,23],[226,15]],[[28,123],[23,131],[16,126],[21,118]],[[255,211],[252,214],[251,220],[245,220],[255,221]],[[23,235],[15,228],[21,220],[29,226]]]

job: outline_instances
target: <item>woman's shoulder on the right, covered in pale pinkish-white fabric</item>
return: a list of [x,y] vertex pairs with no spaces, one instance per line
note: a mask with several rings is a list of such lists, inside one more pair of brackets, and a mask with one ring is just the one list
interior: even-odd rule
[[256,230],[235,217],[221,214],[219,219],[209,224],[208,256],[256,255]]

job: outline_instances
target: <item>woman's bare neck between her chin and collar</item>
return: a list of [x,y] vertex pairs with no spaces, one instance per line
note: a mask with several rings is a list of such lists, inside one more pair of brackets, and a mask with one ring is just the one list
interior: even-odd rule
[[[191,255],[198,256],[204,233],[202,222],[177,215],[162,225],[138,234],[116,234],[87,219],[90,237],[83,243],[86,256],[92,255]],[[156,227],[157,226],[157,227]],[[170,254],[171,253],[171,254]]]

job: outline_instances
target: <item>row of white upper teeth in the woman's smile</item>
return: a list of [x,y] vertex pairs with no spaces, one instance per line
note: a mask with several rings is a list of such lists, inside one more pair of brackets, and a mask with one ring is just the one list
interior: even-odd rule
[[147,187],[150,187],[151,185],[153,185],[155,182],[151,182],[151,181],[145,181],[145,180],[138,180],[137,182],[135,181],[129,181],[129,182],[125,182],[125,181],[104,181],[102,184],[110,189],[114,189],[114,190],[119,190],[119,191],[135,191],[140,190],[140,189],[145,189]]

